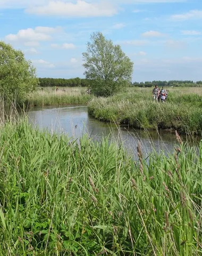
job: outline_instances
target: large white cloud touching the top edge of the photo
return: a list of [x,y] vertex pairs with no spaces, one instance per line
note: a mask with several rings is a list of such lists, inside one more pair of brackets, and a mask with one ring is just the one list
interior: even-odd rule
[[62,17],[102,17],[116,14],[117,9],[109,2],[87,3],[78,0],[77,3],[49,1],[46,5],[30,7],[26,12]]

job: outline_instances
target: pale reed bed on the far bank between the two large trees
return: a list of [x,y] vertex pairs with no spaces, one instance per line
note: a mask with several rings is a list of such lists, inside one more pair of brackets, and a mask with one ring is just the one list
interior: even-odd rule
[[92,98],[83,87],[65,87],[65,91],[60,88],[57,92],[55,89],[55,87],[45,87],[43,90],[37,90],[27,98],[25,105],[30,107],[86,105]]

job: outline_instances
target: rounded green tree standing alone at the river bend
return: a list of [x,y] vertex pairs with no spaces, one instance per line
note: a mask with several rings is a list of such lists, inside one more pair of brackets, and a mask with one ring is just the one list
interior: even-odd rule
[[112,95],[131,83],[133,62],[120,45],[114,45],[100,32],[93,33],[83,54],[83,67],[96,95]]

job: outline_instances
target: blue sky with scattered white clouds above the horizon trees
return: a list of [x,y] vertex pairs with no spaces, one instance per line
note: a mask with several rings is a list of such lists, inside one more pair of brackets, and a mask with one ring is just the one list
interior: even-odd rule
[[202,80],[201,0],[0,0],[0,24],[39,77],[83,77],[101,31],[134,62],[133,81]]

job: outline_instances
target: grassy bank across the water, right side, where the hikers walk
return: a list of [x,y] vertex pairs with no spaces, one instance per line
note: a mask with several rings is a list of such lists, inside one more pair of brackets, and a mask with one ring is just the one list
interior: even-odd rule
[[113,97],[92,99],[88,110],[102,121],[201,134],[202,89],[171,88],[165,104],[153,102],[151,95],[151,89],[130,88]]

